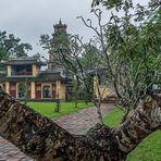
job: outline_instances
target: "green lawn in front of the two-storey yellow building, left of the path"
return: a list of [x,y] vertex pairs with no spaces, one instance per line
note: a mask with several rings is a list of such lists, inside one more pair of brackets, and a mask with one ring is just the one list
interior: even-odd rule
[[91,107],[92,103],[86,104],[85,102],[79,101],[77,108],[75,108],[74,102],[61,102],[61,110],[59,113],[54,112],[55,102],[28,101],[27,106],[29,106],[29,108],[34,109],[38,113],[52,119],[52,117],[60,116],[65,113],[72,113],[77,110]]

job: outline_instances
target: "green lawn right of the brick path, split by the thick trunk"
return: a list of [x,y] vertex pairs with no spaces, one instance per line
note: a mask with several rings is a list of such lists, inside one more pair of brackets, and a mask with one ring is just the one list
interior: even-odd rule
[[[116,126],[122,119],[122,111],[114,109],[104,116],[104,123],[109,126]],[[127,161],[161,161],[161,131],[157,131],[145,138],[127,156]]]

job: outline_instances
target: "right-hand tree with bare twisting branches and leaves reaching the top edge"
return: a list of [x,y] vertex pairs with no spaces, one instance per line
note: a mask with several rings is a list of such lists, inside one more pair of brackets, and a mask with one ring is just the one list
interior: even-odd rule
[[98,20],[97,27],[91,20],[81,18],[96,33],[97,47],[107,62],[108,83],[121,99],[126,117],[151,94],[152,85],[160,78],[161,1],[151,0],[146,7],[135,7],[132,0],[92,1],[92,7],[99,4],[111,11],[107,23],[102,24],[100,9],[91,10]]

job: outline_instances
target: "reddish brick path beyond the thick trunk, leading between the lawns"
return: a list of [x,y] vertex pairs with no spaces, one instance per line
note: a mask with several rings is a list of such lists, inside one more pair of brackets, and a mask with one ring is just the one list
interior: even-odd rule
[[[102,115],[104,115],[112,108],[112,104],[102,104]],[[97,109],[95,107],[83,109],[75,113],[55,117],[53,119],[53,121],[72,134],[84,135],[90,127],[96,125],[96,123],[98,122]]]

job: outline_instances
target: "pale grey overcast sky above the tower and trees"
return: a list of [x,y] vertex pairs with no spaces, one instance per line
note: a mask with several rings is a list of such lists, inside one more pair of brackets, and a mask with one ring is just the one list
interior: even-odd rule
[[[92,33],[76,17],[91,16],[91,0],[0,0],[0,30],[14,34],[23,42],[29,42],[33,51],[46,54],[39,46],[39,36],[51,35],[53,25],[59,22],[67,24],[69,34],[79,34],[87,40]],[[146,2],[147,0],[135,0]],[[46,54],[47,55],[47,54]]]

